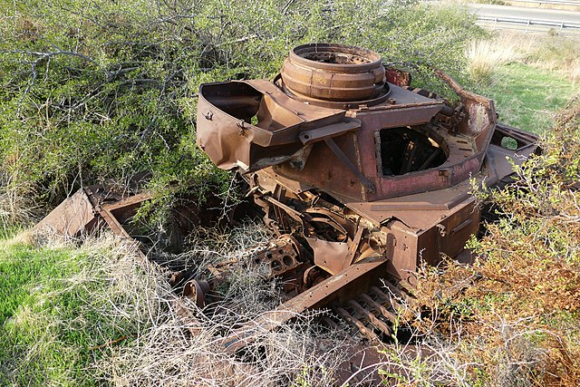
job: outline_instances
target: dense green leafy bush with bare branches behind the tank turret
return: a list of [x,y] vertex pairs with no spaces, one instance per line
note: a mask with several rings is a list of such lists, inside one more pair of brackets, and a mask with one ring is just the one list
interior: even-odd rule
[[462,67],[473,16],[414,0],[0,0],[4,187],[55,204],[82,184],[227,189],[195,147],[202,82],[268,78],[296,44]]

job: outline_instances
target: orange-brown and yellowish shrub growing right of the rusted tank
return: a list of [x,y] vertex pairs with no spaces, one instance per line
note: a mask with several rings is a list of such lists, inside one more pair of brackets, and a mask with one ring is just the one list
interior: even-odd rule
[[546,136],[544,154],[490,193],[502,219],[470,242],[478,262],[425,269],[417,290],[423,331],[457,343],[453,357],[484,385],[580,382],[580,101]]

